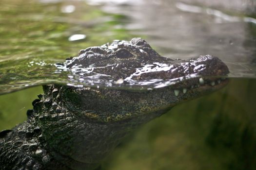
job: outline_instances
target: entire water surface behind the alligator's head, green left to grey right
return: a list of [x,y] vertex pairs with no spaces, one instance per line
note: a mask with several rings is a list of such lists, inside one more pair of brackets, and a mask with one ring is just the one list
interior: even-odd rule
[[55,74],[55,63],[76,56],[80,49],[129,40],[135,34],[146,37],[163,56],[211,54],[228,65],[230,77],[256,77],[253,17],[175,0],[0,3],[0,93],[49,82],[72,83]]

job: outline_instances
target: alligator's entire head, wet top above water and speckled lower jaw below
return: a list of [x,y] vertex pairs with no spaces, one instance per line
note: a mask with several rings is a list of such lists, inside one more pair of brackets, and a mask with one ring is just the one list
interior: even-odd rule
[[[119,88],[70,87],[68,93],[63,93],[69,106],[76,105],[86,119],[102,122],[159,112],[208,94],[227,84],[223,76],[229,72],[221,60],[211,55],[190,60],[162,57],[141,38],[130,42],[115,40],[112,44],[81,50],[78,57],[65,64],[82,75],[82,80],[85,76],[99,76],[114,87],[119,85]],[[145,85],[146,89],[136,90],[133,88],[136,85]]]

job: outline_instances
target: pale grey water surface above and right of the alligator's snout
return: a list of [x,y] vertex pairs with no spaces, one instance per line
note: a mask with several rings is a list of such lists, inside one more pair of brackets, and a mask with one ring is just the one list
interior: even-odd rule
[[228,64],[231,77],[256,76],[255,18],[177,1],[142,2],[143,5],[124,7],[106,3],[102,9],[132,18],[125,28],[139,28],[135,33],[147,35],[150,44],[164,56],[191,58],[211,54]]

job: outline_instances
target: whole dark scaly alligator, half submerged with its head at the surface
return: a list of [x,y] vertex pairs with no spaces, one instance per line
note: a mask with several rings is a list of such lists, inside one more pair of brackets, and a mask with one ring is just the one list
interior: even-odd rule
[[[27,120],[0,132],[0,170],[95,170],[139,125],[224,87],[229,73],[215,56],[166,58],[141,38],[89,47],[57,66],[80,76],[90,68],[114,86],[43,85]],[[133,88],[152,80],[163,82]]]

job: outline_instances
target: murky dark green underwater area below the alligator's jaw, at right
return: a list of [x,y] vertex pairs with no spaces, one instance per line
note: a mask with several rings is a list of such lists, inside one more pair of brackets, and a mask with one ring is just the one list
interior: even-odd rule
[[255,79],[232,79],[217,93],[174,107],[127,137],[104,165],[108,170],[254,170],[255,86]]

